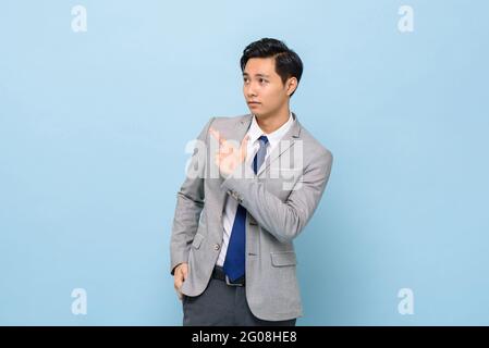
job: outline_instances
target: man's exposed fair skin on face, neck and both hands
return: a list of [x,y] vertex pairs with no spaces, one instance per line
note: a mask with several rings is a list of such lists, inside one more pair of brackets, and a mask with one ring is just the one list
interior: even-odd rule
[[[249,111],[265,134],[280,128],[290,115],[290,96],[297,88],[297,78],[290,77],[282,82],[276,72],[274,58],[252,58],[246,62],[243,72],[243,95]],[[215,162],[224,175],[231,174],[246,159],[248,138],[244,137],[237,148],[210,127],[209,134],[219,141],[220,147]],[[182,299],[181,287],[188,274],[188,264],[180,263],[174,272],[174,288]]]

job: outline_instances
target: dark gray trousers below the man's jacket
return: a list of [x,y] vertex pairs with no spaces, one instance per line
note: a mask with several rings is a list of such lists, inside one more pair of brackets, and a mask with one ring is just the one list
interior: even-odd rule
[[184,326],[295,326],[296,319],[265,321],[253,315],[246,301],[245,286],[230,286],[210,278],[196,297],[183,296]]

